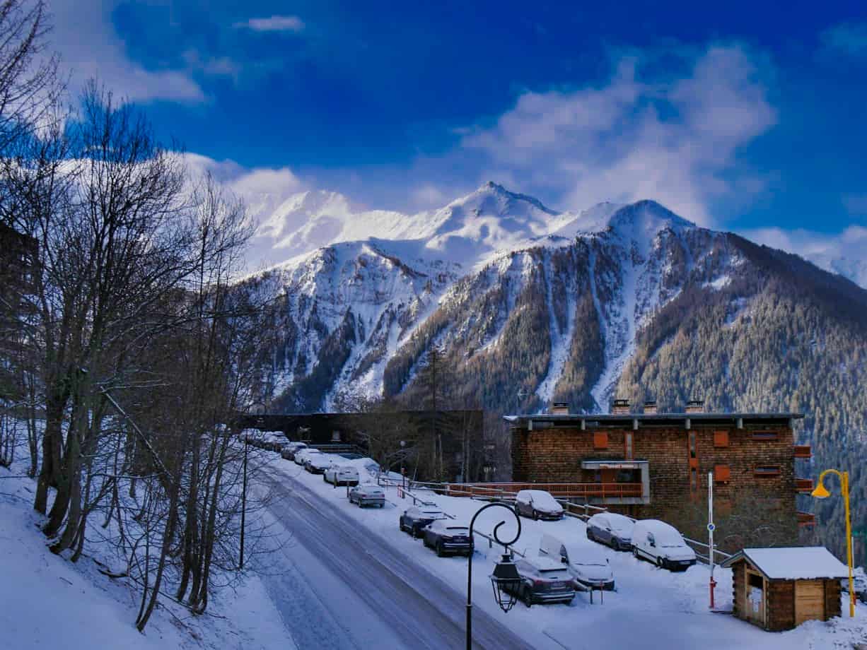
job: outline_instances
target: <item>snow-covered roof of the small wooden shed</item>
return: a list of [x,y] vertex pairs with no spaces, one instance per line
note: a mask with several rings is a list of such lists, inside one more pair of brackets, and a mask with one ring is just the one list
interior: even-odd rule
[[743,549],[722,563],[731,567],[746,559],[768,580],[813,580],[845,578],[849,569],[824,546],[798,546],[778,549]]

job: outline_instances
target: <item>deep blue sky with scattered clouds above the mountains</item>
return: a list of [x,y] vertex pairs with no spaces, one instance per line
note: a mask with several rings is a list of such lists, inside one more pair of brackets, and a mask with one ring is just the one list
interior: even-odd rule
[[74,87],[99,75],[242,193],[411,211],[494,179],[867,244],[864,3],[49,5]]

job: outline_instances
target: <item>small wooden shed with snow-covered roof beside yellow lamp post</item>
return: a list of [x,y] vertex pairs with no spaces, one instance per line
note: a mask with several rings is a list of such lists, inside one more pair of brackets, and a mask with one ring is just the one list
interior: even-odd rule
[[849,571],[824,546],[743,549],[732,569],[734,615],[772,632],[840,615],[840,580]]

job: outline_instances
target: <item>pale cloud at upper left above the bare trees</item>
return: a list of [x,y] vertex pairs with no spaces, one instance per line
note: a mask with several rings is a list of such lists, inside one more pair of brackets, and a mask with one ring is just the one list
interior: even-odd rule
[[54,29],[49,40],[71,71],[72,90],[96,77],[130,101],[204,101],[199,84],[186,70],[147,70],[127,57],[126,45],[114,31],[110,15],[116,2],[53,0]]

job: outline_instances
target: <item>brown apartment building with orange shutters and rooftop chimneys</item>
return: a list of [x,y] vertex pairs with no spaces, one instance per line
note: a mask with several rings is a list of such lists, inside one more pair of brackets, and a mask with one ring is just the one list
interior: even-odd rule
[[[714,511],[768,513],[779,536],[793,541],[796,497],[812,480],[796,477],[796,459],[810,447],[794,444],[800,413],[706,413],[700,401],[686,413],[642,413],[615,400],[608,415],[570,414],[565,405],[540,415],[506,416],[512,427],[512,481],[550,484],[557,496],[603,505],[639,518],[661,518],[703,537],[708,472],[714,473]],[[541,485],[540,485],[541,487]]]

